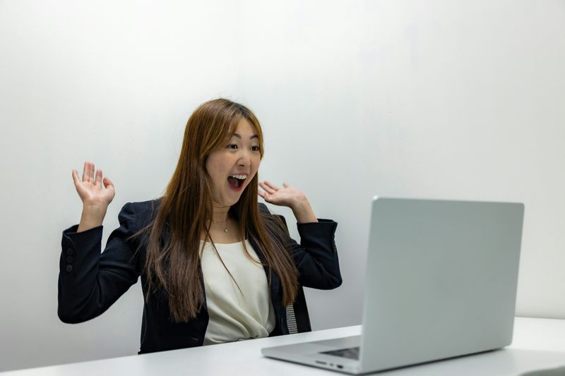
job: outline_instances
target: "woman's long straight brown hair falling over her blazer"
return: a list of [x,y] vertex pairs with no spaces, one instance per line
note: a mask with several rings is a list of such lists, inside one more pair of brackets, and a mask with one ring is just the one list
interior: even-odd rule
[[[186,123],[177,168],[162,196],[153,222],[142,231],[146,237],[145,299],[164,289],[171,319],[187,322],[196,317],[204,301],[200,265],[201,235],[210,238],[212,182],[206,171],[211,152],[225,147],[241,119],[254,126],[263,157],[263,133],[256,116],[242,104],[214,99],[201,104]],[[297,269],[288,252],[284,230],[273,216],[259,212],[257,174],[230,208],[242,239],[260,248],[266,266],[280,278],[285,305],[295,300]],[[249,253],[248,253],[249,255]],[[270,286],[270,277],[268,279]]]

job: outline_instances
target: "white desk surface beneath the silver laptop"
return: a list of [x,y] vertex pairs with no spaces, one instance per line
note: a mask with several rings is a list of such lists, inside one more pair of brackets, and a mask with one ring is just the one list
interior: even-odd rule
[[[565,320],[516,317],[514,341],[499,351],[401,368],[379,375],[519,375],[565,365]],[[359,326],[254,339],[231,344],[125,356],[83,363],[2,372],[2,376],[49,375],[340,375],[263,358],[261,348],[359,334]]]

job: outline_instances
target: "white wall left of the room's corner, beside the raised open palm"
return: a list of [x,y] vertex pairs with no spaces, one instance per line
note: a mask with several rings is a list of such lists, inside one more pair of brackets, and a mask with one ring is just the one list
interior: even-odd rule
[[160,195],[188,116],[236,87],[236,5],[0,2],[0,370],[138,351],[140,284],[95,320],[57,318],[71,170],[92,160],[116,185],[103,243],[122,205]]

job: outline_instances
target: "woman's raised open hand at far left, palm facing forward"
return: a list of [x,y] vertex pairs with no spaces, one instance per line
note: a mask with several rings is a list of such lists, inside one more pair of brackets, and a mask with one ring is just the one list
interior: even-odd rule
[[[106,209],[116,194],[112,181],[107,177],[102,179],[102,170],[97,170],[95,173],[92,162],[84,162],[82,181],[78,178],[78,172],[73,170],[73,181],[76,192],[85,206]],[[105,188],[102,188],[102,182]]]

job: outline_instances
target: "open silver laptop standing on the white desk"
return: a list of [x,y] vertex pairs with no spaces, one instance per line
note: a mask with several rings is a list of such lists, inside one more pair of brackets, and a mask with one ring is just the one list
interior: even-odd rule
[[350,374],[511,344],[524,206],[374,198],[360,336],[263,348]]

